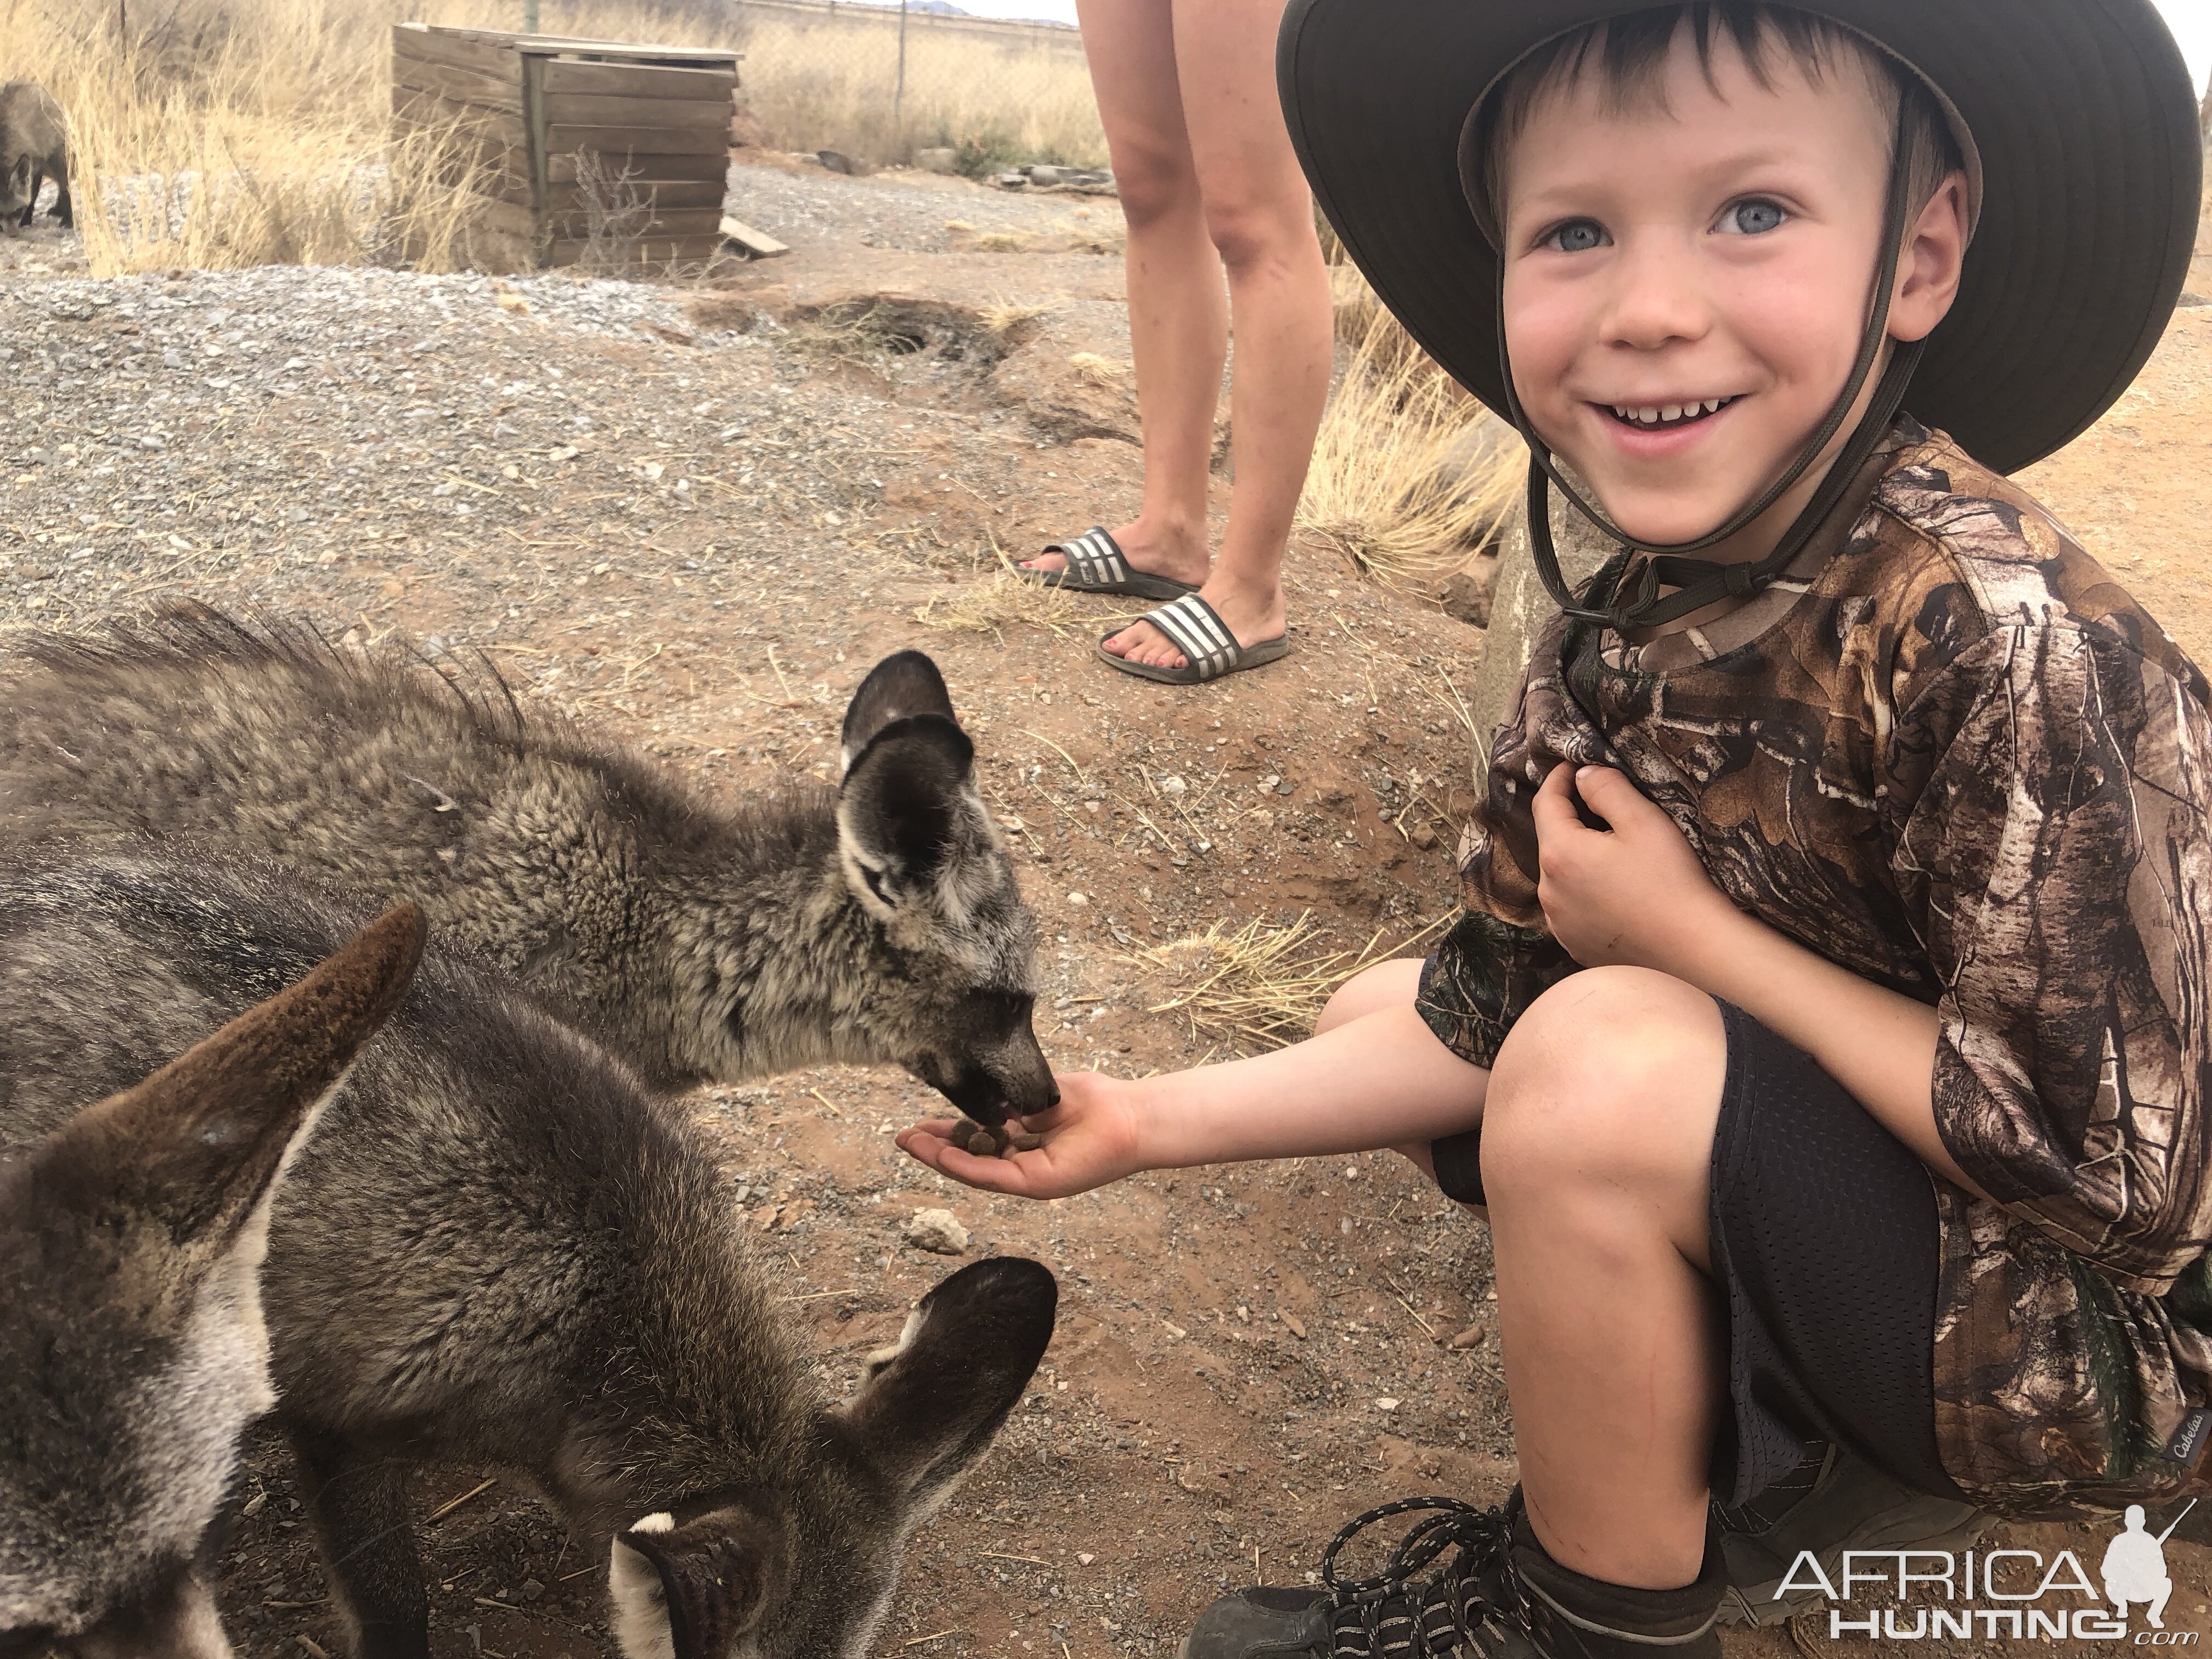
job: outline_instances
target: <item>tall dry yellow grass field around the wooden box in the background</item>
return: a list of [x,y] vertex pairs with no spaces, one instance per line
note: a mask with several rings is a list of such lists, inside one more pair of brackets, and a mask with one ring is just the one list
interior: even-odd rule
[[[69,108],[95,274],[168,265],[456,259],[465,190],[451,135],[389,137],[392,24],[520,27],[518,0],[0,0],[0,80],[44,82]],[[891,18],[896,22],[896,13]],[[801,9],[737,22],[650,0],[544,0],[540,29],[748,53],[745,95],[787,148],[898,159],[916,144],[973,157],[1104,153],[1079,49],[1000,46],[973,31],[907,51],[891,122],[896,29],[823,27]],[[1020,38],[1015,38],[1020,40]],[[104,201],[108,212],[91,212]]]

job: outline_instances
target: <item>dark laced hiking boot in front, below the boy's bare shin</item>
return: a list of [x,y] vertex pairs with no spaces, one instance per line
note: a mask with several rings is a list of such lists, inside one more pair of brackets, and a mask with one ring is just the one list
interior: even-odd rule
[[[1336,1553],[1389,1515],[1431,1511],[1371,1579],[1338,1579]],[[1422,1575],[1422,1568],[1433,1566]],[[1321,1557],[1325,1588],[1254,1586],[1208,1606],[1183,1659],[1719,1659],[1719,1555],[1679,1590],[1601,1584],[1535,1542],[1520,1489],[1502,1509],[1409,1498],[1345,1526]]]

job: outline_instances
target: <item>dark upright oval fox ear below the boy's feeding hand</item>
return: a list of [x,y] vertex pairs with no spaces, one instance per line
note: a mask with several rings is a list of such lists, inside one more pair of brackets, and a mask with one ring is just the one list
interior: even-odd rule
[[854,1436],[922,1513],[984,1453],[1053,1340],[1060,1285],[1022,1256],[993,1256],[938,1283],[869,1360],[845,1407]]

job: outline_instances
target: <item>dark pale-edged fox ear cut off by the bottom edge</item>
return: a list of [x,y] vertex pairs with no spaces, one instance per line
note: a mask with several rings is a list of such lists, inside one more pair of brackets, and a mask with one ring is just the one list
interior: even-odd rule
[[708,1509],[677,1526],[646,1515],[615,1533],[606,1568],[624,1659],[726,1659],[785,1586],[783,1535],[750,1509]]

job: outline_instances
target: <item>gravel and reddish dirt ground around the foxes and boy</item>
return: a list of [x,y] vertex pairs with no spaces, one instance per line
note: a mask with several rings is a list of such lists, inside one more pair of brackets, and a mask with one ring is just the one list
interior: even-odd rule
[[[0,239],[0,628],[190,595],[471,646],[526,697],[728,792],[827,774],[865,668],[925,648],[1013,832],[1044,929],[1037,1033],[1064,1068],[1228,1053],[1159,1009],[1172,978],[1137,956],[1210,925],[1307,918],[1314,949],[1420,949],[1453,905],[1471,743],[1455,688],[1480,630],[1296,546],[1292,655],[1170,690],[1091,657],[1113,602],[1009,595],[1000,551],[1137,504],[1113,204],[759,166],[732,206],[794,254],[644,301],[557,276],[91,283],[60,232]],[[1011,246],[978,246],[991,237]],[[2212,294],[2203,259],[2192,288]],[[834,301],[858,305],[825,323]],[[2208,476],[2208,305],[2028,476],[2201,661]],[[1062,1279],[1037,1383],[916,1537],[880,1655],[1172,1655],[1223,1588],[1303,1582],[1360,1509],[1504,1498],[1484,1230],[1400,1159],[1150,1175],[1035,1206],[905,1159],[891,1130],[931,1102],[863,1071],[695,1102],[739,1148],[763,1261],[832,1391],[956,1265],[900,1241],[916,1208],[951,1208],[969,1256],[1031,1254]],[[524,1491],[440,1469],[420,1504],[440,1659],[611,1652],[604,1562]],[[2090,1557],[2106,1535],[1995,1537]],[[2168,1557],[2168,1624],[2212,1626],[2212,1551]],[[221,1593],[241,1652],[341,1650],[272,1444]],[[1827,1630],[1725,1646],[1801,1652]],[[2002,1644],[1927,1644],[1984,1646]]]

